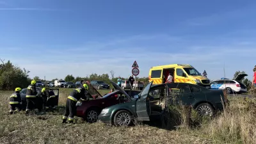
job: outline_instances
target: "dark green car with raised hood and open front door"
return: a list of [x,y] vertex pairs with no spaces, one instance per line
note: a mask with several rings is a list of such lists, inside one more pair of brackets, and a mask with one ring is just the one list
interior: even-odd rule
[[[152,86],[151,82],[141,93],[131,98],[120,86],[113,81],[111,83],[117,90],[124,93],[129,100],[125,103],[102,109],[99,120],[105,124],[128,126],[132,123],[132,118],[134,117],[138,121],[153,120],[153,117],[161,116],[166,100],[174,102],[177,100],[177,102],[182,101],[185,105],[191,105],[201,116],[212,116],[217,110],[223,109],[221,103],[221,99],[224,101],[223,91],[210,90],[196,84],[168,83]],[[171,98],[171,93],[173,92],[177,94],[177,99],[175,100]]]

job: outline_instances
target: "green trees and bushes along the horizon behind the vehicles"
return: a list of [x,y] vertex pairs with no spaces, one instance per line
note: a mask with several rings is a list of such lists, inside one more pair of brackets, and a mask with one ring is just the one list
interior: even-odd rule
[[[13,65],[10,60],[5,62],[4,60],[0,59],[0,61],[1,61],[0,90],[14,90],[16,87],[26,88],[26,86],[30,84],[32,79],[29,77],[29,70],[26,70],[25,68],[22,69],[20,67]],[[234,78],[237,76],[237,74],[240,74],[240,73],[244,73],[244,72],[237,71],[234,74]],[[64,80],[72,81],[74,83],[76,83],[76,81],[81,81],[82,79],[84,79],[85,81],[93,81],[93,80],[104,81],[109,85],[111,85],[110,81],[114,81],[116,83],[118,77],[115,77],[115,72],[111,70],[109,74],[102,74],[102,75],[91,74],[90,76],[86,76],[86,77],[74,77],[72,76],[72,74],[70,74],[70,75],[67,75]],[[33,77],[33,79],[35,79],[36,81],[40,80],[40,81],[46,82],[44,81],[44,79],[40,79],[40,77],[38,76]],[[56,79],[52,79],[51,81],[53,82]],[[121,77],[121,79],[127,80],[129,79],[129,77]],[[149,80],[148,77],[136,77],[136,81],[141,81],[145,85],[148,84],[148,80]],[[246,85],[248,90],[250,89],[252,85],[252,81],[246,78],[246,79],[242,79],[241,82]]]

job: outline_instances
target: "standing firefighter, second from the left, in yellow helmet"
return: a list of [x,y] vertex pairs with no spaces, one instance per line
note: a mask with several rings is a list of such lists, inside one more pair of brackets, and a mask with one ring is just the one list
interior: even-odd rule
[[35,108],[37,103],[36,95],[37,95],[36,81],[32,80],[31,84],[28,86],[28,90],[26,93],[26,101],[27,101],[26,114],[29,114],[29,111]]

